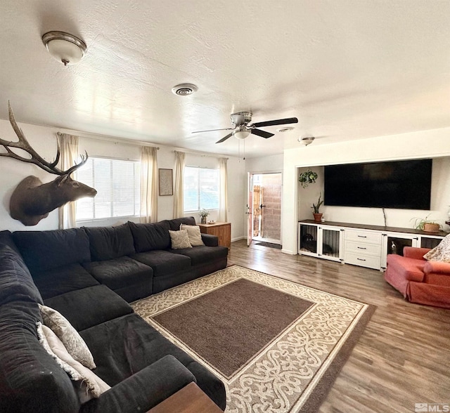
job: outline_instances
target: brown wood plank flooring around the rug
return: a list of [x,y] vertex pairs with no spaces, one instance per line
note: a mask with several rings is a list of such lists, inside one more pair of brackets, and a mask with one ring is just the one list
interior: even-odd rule
[[377,306],[319,412],[414,412],[419,402],[450,405],[450,310],[405,301],[380,271],[247,247],[245,240],[231,244],[232,264]]

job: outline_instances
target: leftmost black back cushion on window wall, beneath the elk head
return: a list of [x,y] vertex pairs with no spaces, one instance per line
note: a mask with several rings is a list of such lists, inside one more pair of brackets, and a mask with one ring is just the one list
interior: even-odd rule
[[89,238],[81,228],[53,231],[16,231],[17,244],[30,273],[91,260]]

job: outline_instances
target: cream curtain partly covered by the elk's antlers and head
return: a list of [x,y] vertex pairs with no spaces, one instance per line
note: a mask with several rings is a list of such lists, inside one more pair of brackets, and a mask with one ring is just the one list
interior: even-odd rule
[[[78,157],[78,136],[58,133],[60,159],[59,167],[66,171],[74,166]],[[76,202],[68,202],[58,209],[58,228],[65,230],[74,228],[76,224]]]

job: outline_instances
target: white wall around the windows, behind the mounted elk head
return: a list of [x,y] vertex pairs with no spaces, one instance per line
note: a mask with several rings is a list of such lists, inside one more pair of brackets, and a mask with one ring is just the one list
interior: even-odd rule
[[[56,133],[60,129],[49,128],[44,126],[34,126],[29,124],[20,124],[25,136],[30,141],[32,147],[43,156],[47,161],[54,159],[56,155]],[[75,131],[70,133],[77,134]],[[79,133],[82,135],[82,133]],[[11,124],[8,121],[0,120],[0,136],[6,140],[18,140]],[[0,147],[0,151],[3,147]],[[140,159],[141,146],[133,143],[127,143],[123,140],[105,139],[100,136],[80,137],[79,138],[79,152],[83,153],[86,150],[89,156],[112,157],[120,159]],[[209,155],[195,155],[186,153],[186,165],[192,166],[206,166],[210,168],[217,168],[218,157]],[[173,147],[160,146],[158,150],[158,168],[174,169],[175,154]],[[228,181],[229,181],[229,209],[228,220],[231,222],[231,238],[233,240],[243,237],[243,210],[245,203],[245,162],[242,162],[236,157],[229,157],[227,163]],[[25,227],[19,221],[13,220],[9,216],[9,199],[11,193],[20,181],[26,176],[38,176],[41,181],[53,181],[55,176],[46,173],[33,164],[25,164],[18,162],[15,159],[7,157],[0,157],[0,230],[54,230],[58,228],[58,211],[52,211],[49,217],[44,218],[39,224]],[[173,218],[173,196],[158,197],[158,221],[163,219]],[[186,214],[191,216],[193,214]],[[195,215],[194,215],[195,216]],[[210,219],[217,219],[216,212],[212,212]],[[199,217],[195,216],[199,221]],[[128,218],[120,220],[105,220],[96,221],[91,225],[113,225],[127,221]],[[84,225],[89,225],[86,223]]]

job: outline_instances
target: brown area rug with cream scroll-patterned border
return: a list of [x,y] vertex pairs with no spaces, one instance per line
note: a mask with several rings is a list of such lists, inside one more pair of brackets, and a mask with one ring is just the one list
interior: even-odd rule
[[226,413],[315,412],[375,310],[238,265],[132,306],[224,381]]

